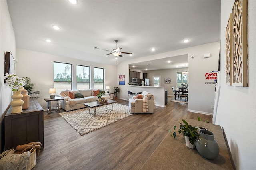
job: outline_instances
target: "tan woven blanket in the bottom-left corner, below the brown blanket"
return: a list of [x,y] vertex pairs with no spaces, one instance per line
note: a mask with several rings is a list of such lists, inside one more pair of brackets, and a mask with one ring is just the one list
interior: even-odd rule
[[24,170],[28,164],[30,152],[16,154],[14,149],[6,150],[0,155],[1,170]]

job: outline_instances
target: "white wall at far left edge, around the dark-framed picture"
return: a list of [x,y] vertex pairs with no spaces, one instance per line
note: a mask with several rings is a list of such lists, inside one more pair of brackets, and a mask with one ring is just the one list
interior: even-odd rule
[[11,88],[4,84],[4,54],[8,51],[14,58],[16,57],[15,35],[6,0],[0,1],[0,37],[0,111],[2,117],[10,106],[12,96]]

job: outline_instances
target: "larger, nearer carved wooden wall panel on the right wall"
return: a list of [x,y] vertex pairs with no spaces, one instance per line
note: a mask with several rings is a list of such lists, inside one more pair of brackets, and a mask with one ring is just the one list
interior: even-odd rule
[[232,10],[232,85],[248,87],[247,0],[235,0]]

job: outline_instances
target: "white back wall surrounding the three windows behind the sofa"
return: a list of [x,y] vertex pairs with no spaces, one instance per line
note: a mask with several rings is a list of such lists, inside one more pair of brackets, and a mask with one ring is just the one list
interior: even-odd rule
[[[86,57],[85,57],[86,58]],[[114,91],[117,77],[116,66],[82,61],[57,55],[29,51],[25,49],[16,49],[16,74],[19,77],[30,77],[31,83],[35,83],[33,91],[40,91],[38,102],[46,109],[47,103],[44,98],[49,98],[49,88],[53,87],[53,62],[70,63],[73,65],[73,71],[76,71],[76,65],[86,65],[91,67],[91,75],[93,75],[93,67],[105,69],[105,87],[110,86],[110,92]],[[73,76],[74,77],[74,76]],[[91,87],[93,88],[93,87]]]

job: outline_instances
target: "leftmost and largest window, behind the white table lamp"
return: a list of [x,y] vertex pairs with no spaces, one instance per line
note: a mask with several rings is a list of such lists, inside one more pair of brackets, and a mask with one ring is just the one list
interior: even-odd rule
[[54,88],[56,94],[72,90],[72,64],[54,62]]

